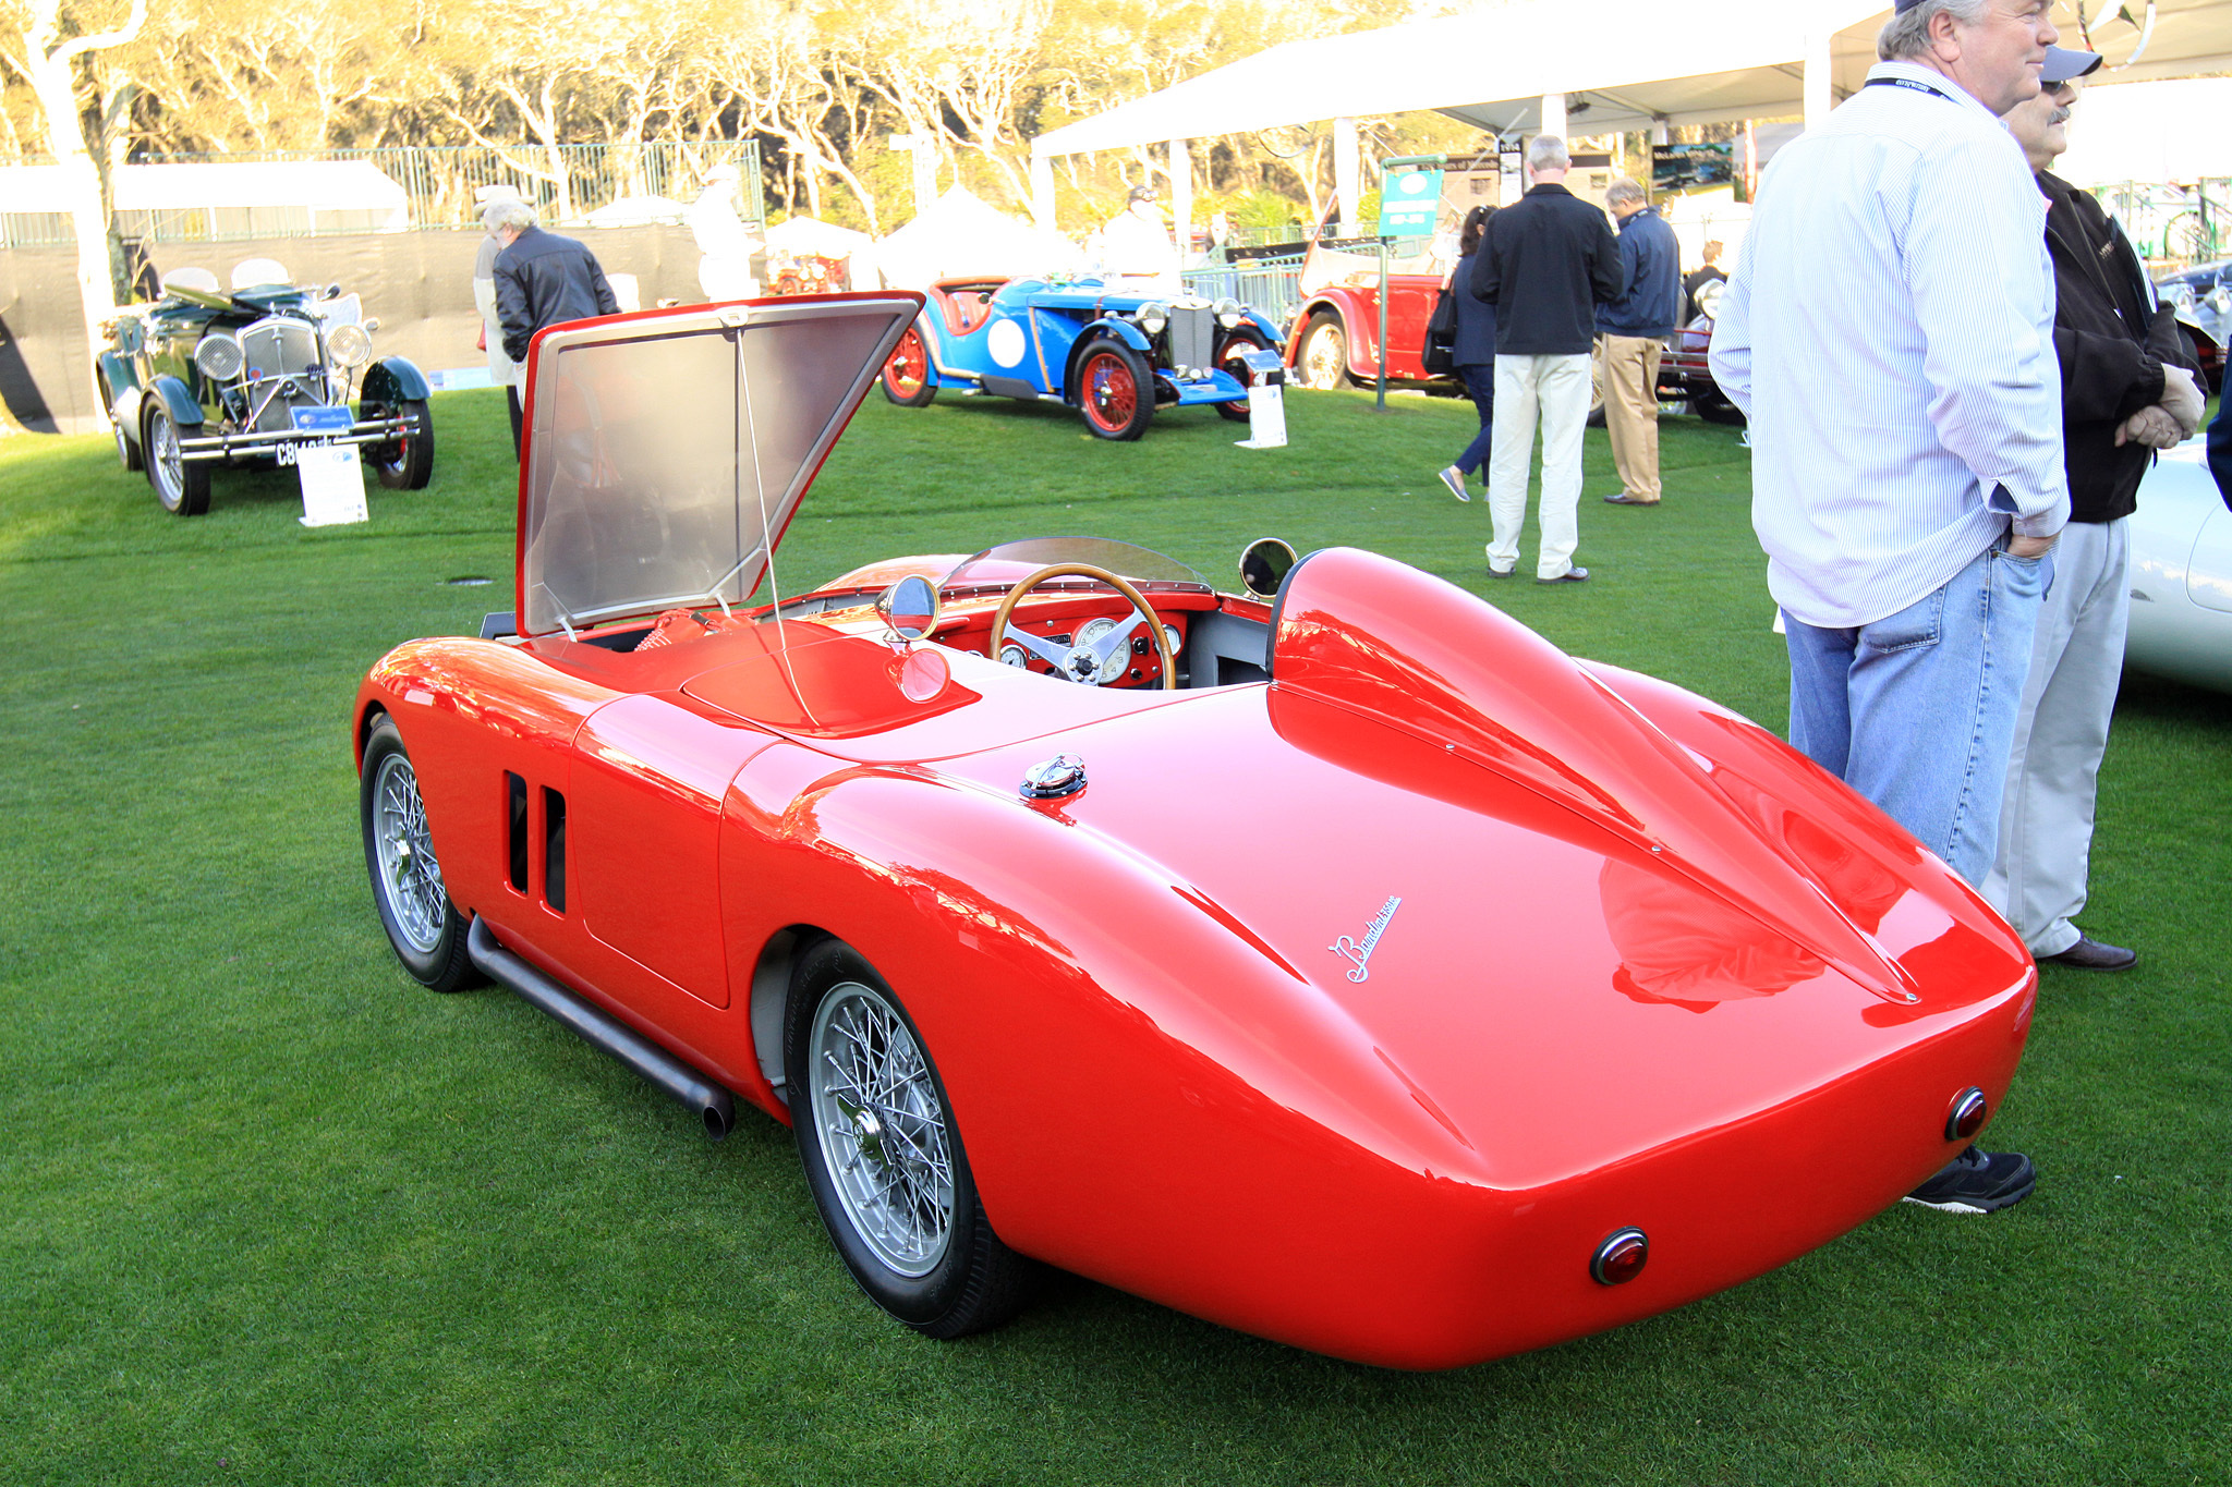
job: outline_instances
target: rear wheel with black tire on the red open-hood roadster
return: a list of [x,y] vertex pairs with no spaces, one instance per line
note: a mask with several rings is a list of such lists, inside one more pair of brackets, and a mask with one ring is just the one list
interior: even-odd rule
[[[848,1101],[846,1090],[857,1090],[848,1070],[875,1059],[882,1059],[875,1072],[884,1075],[870,1079],[879,1104]],[[899,1077],[888,1077],[895,1068]],[[806,1186],[837,1255],[870,1302],[926,1338],[989,1331],[1029,1304],[1040,1269],[1002,1244],[984,1217],[946,1086],[922,1032],[875,968],[844,941],[812,945],[790,972],[783,1075]],[[949,1175],[942,1197],[940,1146]],[[848,1170],[862,1173],[862,1186],[873,1190],[841,1190]],[[897,1215],[897,1222],[870,1237],[848,1204]],[[940,1228],[935,1244],[922,1242],[924,1228]],[[913,1262],[893,1260],[893,1253],[913,1255]]]

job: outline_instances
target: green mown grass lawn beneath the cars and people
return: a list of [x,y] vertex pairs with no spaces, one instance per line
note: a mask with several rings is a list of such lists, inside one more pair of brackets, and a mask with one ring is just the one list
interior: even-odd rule
[[[2232,698],[2136,678],[2087,927],[1998,1144],[2038,1197],[1899,1206],[1736,1291],[1442,1376],[1330,1362],[1067,1282],[924,1342],[857,1295],[790,1137],[679,1106],[498,992],[397,970],[348,704],[393,642],[511,606],[493,392],[435,399],[433,486],[306,531],[290,470],[163,515],[105,439],[0,441],[0,1485],[16,1483],[2210,1483],[2232,1478]],[[1370,546],[1473,591],[1433,479],[1471,408],[870,399],[779,562],[1096,533],[1234,582],[1241,544]],[[1558,644],[1781,727],[1734,430],[1665,424],[1667,502],[1589,435]],[[1529,533],[1522,573],[1533,564]],[[455,586],[484,575],[493,586]],[[1080,1133],[1080,1155],[1120,1124]],[[1761,1170],[1759,1204],[1806,1182]]]

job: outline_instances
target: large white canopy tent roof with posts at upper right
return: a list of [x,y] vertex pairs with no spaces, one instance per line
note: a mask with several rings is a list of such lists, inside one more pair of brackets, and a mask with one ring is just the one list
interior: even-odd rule
[[[2116,4],[2136,25],[2114,20]],[[2118,82],[2232,69],[2232,0],[2085,0],[2085,13]],[[1344,221],[1364,116],[1437,109],[1504,136],[1665,138],[1674,125],[1797,114],[1815,125],[1861,85],[1888,18],[1875,0],[1511,0],[1286,42],[1038,136],[1031,212],[1054,223],[1056,156],[1170,143],[1183,223],[1185,140],[1328,118]],[[2085,45],[2078,27],[2065,40]]]

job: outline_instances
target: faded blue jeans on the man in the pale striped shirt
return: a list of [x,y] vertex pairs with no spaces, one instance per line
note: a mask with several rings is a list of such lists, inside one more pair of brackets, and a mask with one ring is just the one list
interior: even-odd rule
[[1982,885],[2051,557],[1986,548],[1895,615],[1817,629],[1783,615],[1790,742]]

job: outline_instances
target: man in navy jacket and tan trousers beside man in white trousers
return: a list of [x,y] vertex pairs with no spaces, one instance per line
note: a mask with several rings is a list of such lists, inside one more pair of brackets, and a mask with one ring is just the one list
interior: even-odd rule
[[1605,189],[1620,223],[1627,292],[1596,308],[1596,383],[1605,392],[1605,433],[1620,493],[1612,506],[1658,504],[1658,357],[1681,317],[1681,241],[1643,187],[1620,176]]

